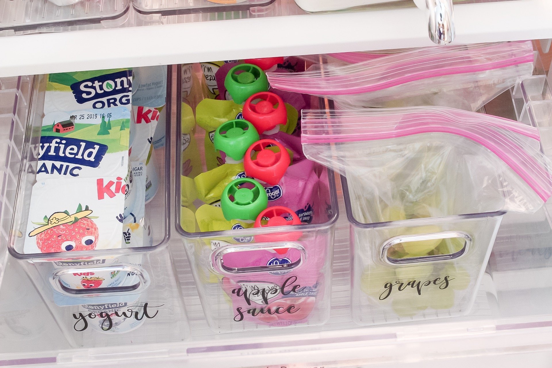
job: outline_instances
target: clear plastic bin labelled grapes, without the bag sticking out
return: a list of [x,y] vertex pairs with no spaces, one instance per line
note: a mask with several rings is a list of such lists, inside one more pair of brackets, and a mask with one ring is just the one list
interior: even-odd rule
[[[469,313],[505,212],[360,223],[352,214],[347,179],[341,180],[353,250],[353,321],[371,325]],[[447,239],[459,239],[460,247],[449,254],[392,257],[395,244]]]

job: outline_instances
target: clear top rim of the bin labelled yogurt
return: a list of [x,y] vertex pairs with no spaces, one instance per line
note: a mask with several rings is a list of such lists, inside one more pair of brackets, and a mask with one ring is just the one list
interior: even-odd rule
[[[172,65],[167,65],[167,99],[165,104],[165,110],[167,111],[166,114],[166,127],[169,127],[169,129],[165,129],[165,182],[164,182],[164,196],[165,196],[165,231],[163,234],[163,238],[161,239],[161,242],[151,246],[151,247],[132,247],[132,248],[116,248],[116,249],[94,249],[94,250],[79,250],[75,252],[56,252],[56,253],[19,253],[17,250],[14,249],[14,238],[15,235],[13,234],[13,231],[10,231],[10,236],[8,238],[8,252],[10,255],[12,255],[15,259],[20,260],[37,260],[38,262],[55,262],[55,261],[61,261],[61,262],[67,262],[71,260],[79,261],[79,260],[86,260],[86,259],[78,259],[78,258],[84,258],[84,257],[91,257],[91,259],[98,259],[98,258],[107,258],[107,257],[114,257],[117,255],[130,255],[130,254],[140,254],[140,253],[148,253],[148,252],[154,252],[156,250],[161,250],[164,247],[168,245],[168,240],[171,237],[171,94],[172,94]],[[34,84],[36,83],[36,77],[33,80],[33,88]],[[34,94],[34,89],[33,89]],[[31,103],[33,101],[33,95],[31,95]],[[29,118],[26,122],[25,126],[25,138],[24,138],[24,147],[23,152],[26,152],[26,145],[29,144],[30,140],[28,139],[27,135],[30,134],[29,126],[30,124],[33,124],[32,119],[30,119],[31,112],[29,111]],[[23,167],[25,165],[25,161],[22,159],[21,161],[21,167],[20,172],[23,172]],[[18,178],[18,187],[22,182],[22,178]],[[15,204],[17,205],[19,199],[19,194],[15,197]],[[11,226],[13,228],[15,224],[15,209],[11,221]],[[55,258],[55,260],[54,260]],[[76,259],[77,258],[77,259]]]

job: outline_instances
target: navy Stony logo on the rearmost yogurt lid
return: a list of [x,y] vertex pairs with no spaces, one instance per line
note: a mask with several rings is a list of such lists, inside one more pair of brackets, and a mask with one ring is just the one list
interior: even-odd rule
[[124,70],[84,79],[71,84],[75,100],[79,104],[132,92],[132,72]]

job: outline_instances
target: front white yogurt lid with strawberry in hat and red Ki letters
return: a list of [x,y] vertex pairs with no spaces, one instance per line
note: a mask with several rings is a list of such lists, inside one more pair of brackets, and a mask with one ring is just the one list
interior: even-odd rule
[[24,253],[121,247],[120,177],[53,178],[33,186]]

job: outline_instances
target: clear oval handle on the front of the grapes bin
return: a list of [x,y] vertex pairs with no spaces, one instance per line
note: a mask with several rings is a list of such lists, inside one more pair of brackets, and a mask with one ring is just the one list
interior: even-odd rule
[[[450,238],[463,238],[465,241],[464,248],[460,249],[458,252],[449,253],[449,254],[436,254],[436,255],[424,255],[423,257],[409,257],[409,258],[389,258],[387,256],[387,251],[389,248],[399,243],[407,242],[418,242],[426,240],[437,240],[437,239],[450,239]],[[410,235],[399,235],[392,237],[381,247],[381,259],[388,264],[397,265],[397,264],[412,264],[412,263],[423,263],[423,262],[436,262],[443,260],[452,260],[461,257],[464,255],[469,247],[471,246],[471,236],[468,233],[463,231],[442,231],[436,233],[427,233],[427,234],[410,234]]]

